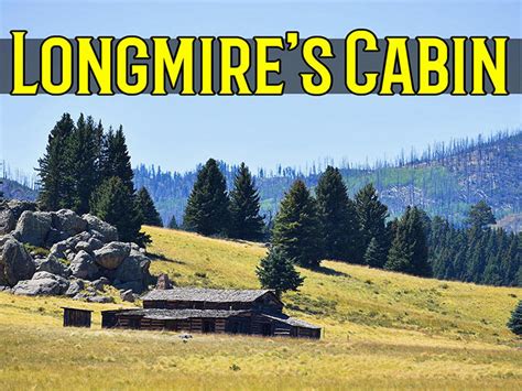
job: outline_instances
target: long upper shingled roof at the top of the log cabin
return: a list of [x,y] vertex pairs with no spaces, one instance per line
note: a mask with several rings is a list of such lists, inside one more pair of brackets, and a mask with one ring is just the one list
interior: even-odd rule
[[208,303],[251,303],[270,293],[271,290],[213,290],[202,287],[174,287],[172,290],[153,290],[141,298],[144,301],[181,301]]

